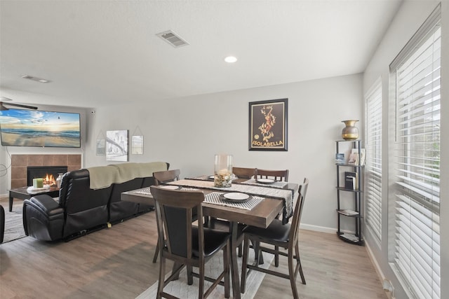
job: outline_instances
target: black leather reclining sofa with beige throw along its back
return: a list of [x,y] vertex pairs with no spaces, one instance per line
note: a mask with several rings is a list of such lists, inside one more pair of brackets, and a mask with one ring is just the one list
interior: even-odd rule
[[[166,162],[123,163],[67,172],[62,176],[59,202],[36,195],[23,204],[25,235],[43,241],[73,239],[151,211],[152,206],[122,202],[121,193],[154,184],[153,172]],[[100,181],[100,185],[93,181]]]

